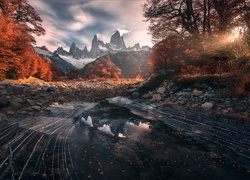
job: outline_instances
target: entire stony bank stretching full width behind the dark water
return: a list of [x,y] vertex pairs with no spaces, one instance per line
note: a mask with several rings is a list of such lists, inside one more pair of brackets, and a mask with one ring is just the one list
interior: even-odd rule
[[[143,92],[140,91],[142,88]],[[249,120],[250,97],[225,96],[227,91],[226,87],[214,87],[206,83],[180,85],[172,80],[165,80],[160,85],[147,81],[138,84],[135,80],[23,84],[5,80],[0,82],[0,119],[46,111],[53,103],[98,102],[115,96],[132,96],[211,113],[240,116]]]

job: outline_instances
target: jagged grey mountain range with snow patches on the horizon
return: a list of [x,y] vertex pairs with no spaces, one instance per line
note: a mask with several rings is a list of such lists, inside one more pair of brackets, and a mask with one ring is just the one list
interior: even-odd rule
[[109,61],[112,66],[121,70],[119,75],[121,78],[133,78],[149,74],[147,59],[150,47],[141,47],[139,43],[133,47],[126,47],[123,36],[120,35],[119,31],[111,36],[109,43],[104,43],[97,38],[97,35],[94,35],[90,51],[86,46],[83,49],[78,48],[74,42],[71,44],[69,51],[58,47],[55,52],[50,52],[45,46],[36,47],[35,50],[42,58],[53,62],[62,76],[78,72],[80,76],[84,77],[90,65],[97,68],[97,64],[105,61]]

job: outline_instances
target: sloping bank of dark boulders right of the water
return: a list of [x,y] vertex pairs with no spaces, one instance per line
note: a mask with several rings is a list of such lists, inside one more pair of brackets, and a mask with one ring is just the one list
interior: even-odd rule
[[[185,106],[211,113],[227,114],[250,120],[250,97],[232,96],[227,93],[229,87],[211,85],[206,82],[175,82],[163,80],[156,85],[159,77],[153,77],[144,81],[135,92],[134,96],[141,96],[151,101]],[[150,91],[140,92],[156,85]],[[140,92],[140,93],[139,93]]]

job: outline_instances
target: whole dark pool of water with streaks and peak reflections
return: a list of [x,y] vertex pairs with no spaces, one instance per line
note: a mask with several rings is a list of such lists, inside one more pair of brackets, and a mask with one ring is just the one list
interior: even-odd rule
[[231,117],[123,97],[54,105],[0,123],[0,179],[249,179],[249,132]]

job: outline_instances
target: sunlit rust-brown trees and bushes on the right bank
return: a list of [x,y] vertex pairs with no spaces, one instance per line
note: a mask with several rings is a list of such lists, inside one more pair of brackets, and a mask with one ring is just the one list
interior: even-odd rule
[[238,77],[228,85],[250,91],[249,0],[147,0],[143,8],[156,43],[152,72]]

